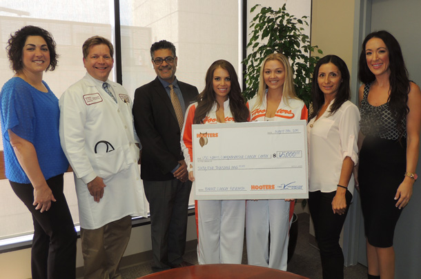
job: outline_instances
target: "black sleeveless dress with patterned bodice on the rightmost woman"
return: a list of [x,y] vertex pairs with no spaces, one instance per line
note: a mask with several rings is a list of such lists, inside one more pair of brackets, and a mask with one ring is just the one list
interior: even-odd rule
[[[361,101],[361,132],[366,136],[360,150],[358,180],[366,238],[374,247],[391,247],[402,209],[395,205],[396,190],[407,166],[407,132],[400,133],[389,103],[378,107],[367,101],[370,85]],[[402,120],[406,127],[406,119]],[[402,134],[402,136],[401,136]]]

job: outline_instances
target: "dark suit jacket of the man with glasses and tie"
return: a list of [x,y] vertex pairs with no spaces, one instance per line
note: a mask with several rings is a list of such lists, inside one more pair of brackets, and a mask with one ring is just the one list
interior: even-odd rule
[[[196,101],[197,88],[178,81],[186,109]],[[156,78],[135,91],[133,101],[135,129],[142,145],[141,178],[171,180],[171,171],[184,160],[180,146],[180,130],[173,104],[164,86]]]

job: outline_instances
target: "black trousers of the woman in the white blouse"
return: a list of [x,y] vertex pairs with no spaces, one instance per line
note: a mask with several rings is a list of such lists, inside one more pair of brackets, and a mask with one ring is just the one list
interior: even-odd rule
[[320,249],[324,279],[344,278],[344,254],[339,245],[340,233],[352,200],[346,190],[345,214],[333,214],[332,200],[336,191],[331,193],[309,192],[309,209],[313,219],[315,238]]

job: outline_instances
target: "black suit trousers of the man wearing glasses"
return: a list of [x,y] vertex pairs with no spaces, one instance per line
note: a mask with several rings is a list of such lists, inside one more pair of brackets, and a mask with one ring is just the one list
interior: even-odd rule
[[192,183],[144,180],[150,209],[154,272],[179,265],[186,249],[187,207]]

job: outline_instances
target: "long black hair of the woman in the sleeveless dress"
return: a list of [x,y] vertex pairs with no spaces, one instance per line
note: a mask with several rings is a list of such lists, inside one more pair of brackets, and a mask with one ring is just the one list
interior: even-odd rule
[[369,34],[362,43],[362,50],[360,54],[360,63],[358,66],[358,77],[364,84],[375,81],[374,74],[370,71],[366,61],[366,43],[373,38],[381,39],[389,51],[389,69],[391,74],[389,76],[390,91],[389,107],[396,120],[397,129],[400,134],[404,134],[405,127],[402,120],[407,117],[409,112],[408,94],[410,90],[409,74],[407,67],[405,67],[404,56],[398,41],[387,31],[380,30]]

